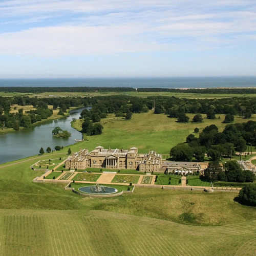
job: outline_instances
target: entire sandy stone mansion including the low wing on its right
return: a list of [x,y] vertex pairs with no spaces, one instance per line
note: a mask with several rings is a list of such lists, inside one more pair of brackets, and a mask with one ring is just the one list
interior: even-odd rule
[[137,147],[129,150],[119,150],[116,148],[105,149],[97,146],[95,150],[89,152],[87,148],[80,148],[79,152],[70,156],[65,167],[70,169],[86,169],[87,167],[106,169],[136,169],[140,172],[160,172],[172,174],[203,174],[203,169],[199,163],[162,161],[162,155],[155,151],[147,154],[138,154]]

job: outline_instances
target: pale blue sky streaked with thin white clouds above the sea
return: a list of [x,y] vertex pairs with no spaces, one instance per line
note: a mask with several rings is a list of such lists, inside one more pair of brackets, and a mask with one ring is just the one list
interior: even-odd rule
[[0,78],[255,75],[255,0],[0,2]]

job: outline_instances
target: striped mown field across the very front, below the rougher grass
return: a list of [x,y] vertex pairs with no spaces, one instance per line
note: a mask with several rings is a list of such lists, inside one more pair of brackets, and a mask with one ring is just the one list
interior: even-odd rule
[[76,210],[54,215],[2,210],[0,228],[2,255],[253,255],[256,250],[255,221],[193,227],[97,210],[82,216]]

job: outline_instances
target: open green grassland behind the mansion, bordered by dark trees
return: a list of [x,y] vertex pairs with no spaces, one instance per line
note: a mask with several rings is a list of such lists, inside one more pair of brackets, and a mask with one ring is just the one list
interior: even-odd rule
[[[187,114],[193,119],[194,114]],[[206,115],[202,115],[206,117]],[[219,131],[223,131],[225,124],[222,123],[224,115],[217,115],[217,119],[210,120],[204,118],[202,123],[177,123],[176,118],[169,118],[164,114],[154,114],[152,111],[148,113],[133,114],[132,119],[125,120],[122,117],[115,117],[110,114],[108,118],[101,119],[103,125],[103,133],[97,136],[87,136],[88,141],[83,141],[77,144],[76,150],[79,147],[88,147],[93,150],[98,144],[105,148],[130,148],[138,147],[139,153],[147,153],[149,150],[156,150],[161,154],[169,155],[170,148],[180,142],[184,142],[186,137],[194,132],[195,127],[198,127],[200,132],[205,126],[216,124]],[[219,119],[220,117],[220,119]],[[256,120],[256,115],[252,118],[243,119],[236,116],[234,122],[247,122]],[[82,120],[76,121],[73,127],[81,130]],[[177,133],[177,131],[179,131]],[[195,134],[198,136],[198,134]],[[120,139],[121,138],[121,139]],[[145,143],[146,141],[146,143]]]

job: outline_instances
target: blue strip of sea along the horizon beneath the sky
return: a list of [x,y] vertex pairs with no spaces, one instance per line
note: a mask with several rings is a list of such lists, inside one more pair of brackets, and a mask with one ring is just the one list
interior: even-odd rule
[[256,76],[0,79],[0,87],[246,88],[256,87]]

